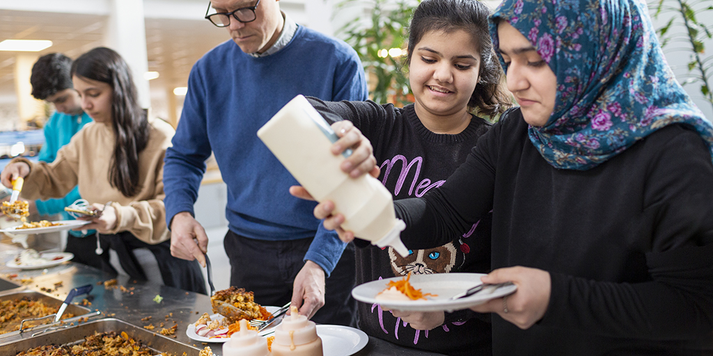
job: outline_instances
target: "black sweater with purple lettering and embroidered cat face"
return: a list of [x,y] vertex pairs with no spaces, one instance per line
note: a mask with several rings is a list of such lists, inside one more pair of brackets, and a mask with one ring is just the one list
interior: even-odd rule
[[[478,137],[491,126],[481,117],[471,117],[463,132],[437,134],[419,120],[414,105],[394,108],[373,101],[330,103],[308,98],[322,115],[332,120],[349,120],[374,146],[381,167],[379,180],[394,200],[421,197],[445,182],[465,162]],[[443,244],[412,250],[401,257],[393,248],[364,244],[356,249],[356,283],[406,276],[409,272],[487,273],[490,269],[491,219],[470,224],[450,234]],[[447,241],[446,241],[447,240]],[[476,282],[476,281],[473,281]],[[386,287],[386,283],[384,283]],[[491,324],[471,310],[446,313],[443,325],[432,330],[414,330],[379,305],[359,303],[359,328],[365,333],[397,345],[431,350],[446,355],[491,355]],[[470,313],[467,313],[470,312]]]

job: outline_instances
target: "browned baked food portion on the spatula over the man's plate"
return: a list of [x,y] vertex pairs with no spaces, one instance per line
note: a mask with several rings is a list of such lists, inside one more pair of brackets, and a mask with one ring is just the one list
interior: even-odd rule
[[271,314],[262,305],[255,303],[254,299],[252,292],[232,286],[215,292],[210,297],[210,305],[213,313],[224,316],[229,323],[235,323],[240,319],[267,320],[270,318]]

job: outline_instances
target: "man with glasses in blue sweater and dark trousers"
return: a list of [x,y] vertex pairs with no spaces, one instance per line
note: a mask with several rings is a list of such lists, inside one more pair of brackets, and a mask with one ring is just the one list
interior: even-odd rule
[[318,323],[354,326],[353,246],[343,255],[345,245],[336,237],[311,246],[314,236],[333,233],[317,231],[313,202],[289,195],[297,181],[257,130],[298,94],[366,100],[361,62],[346,43],[298,26],[280,11],[278,0],[212,0],[206,19],[227,28],[232,41],[193,66],[173,147],[166,152],[171,252],[205,266],[207,236],[194,219],[193,204],[212,151],[227,184],[230,284],[252,290],[262,305],[292,300],[300,314],[314,315]]

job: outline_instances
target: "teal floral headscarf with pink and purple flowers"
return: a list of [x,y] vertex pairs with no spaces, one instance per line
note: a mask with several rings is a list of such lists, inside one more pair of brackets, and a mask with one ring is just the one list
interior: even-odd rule
[[528,129],[553,167],[596,167],[674,123],[713,155],[713,125],[674,78],[647,11],[640,0],[505,0],[491,17],[496,51],[497,23],[508,21],[557,75],[552,115]]

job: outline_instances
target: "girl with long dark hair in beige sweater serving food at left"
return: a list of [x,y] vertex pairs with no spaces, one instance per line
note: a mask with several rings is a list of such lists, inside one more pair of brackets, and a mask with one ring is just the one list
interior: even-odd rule
[[[2,184],[11,187],[11,179],[24,177],[26,199],[63,197],[78,186],[84,199],[103,209],[101,216],[81,228],[98,231],[103,269],[117,273],[109,263],[111,249],[131,278],[163,280],[167,286],[205,293],[198,263],[170,255],[163,156],[173,127],[162,120],[147,120],[127,64],[109,48],[94,48],[77,58],[72,80],[83,110],[94,122],[59,150],[52,163],[14,159],[2,172]],[[147,276],[136,248],[153,253],[160,276]]]

